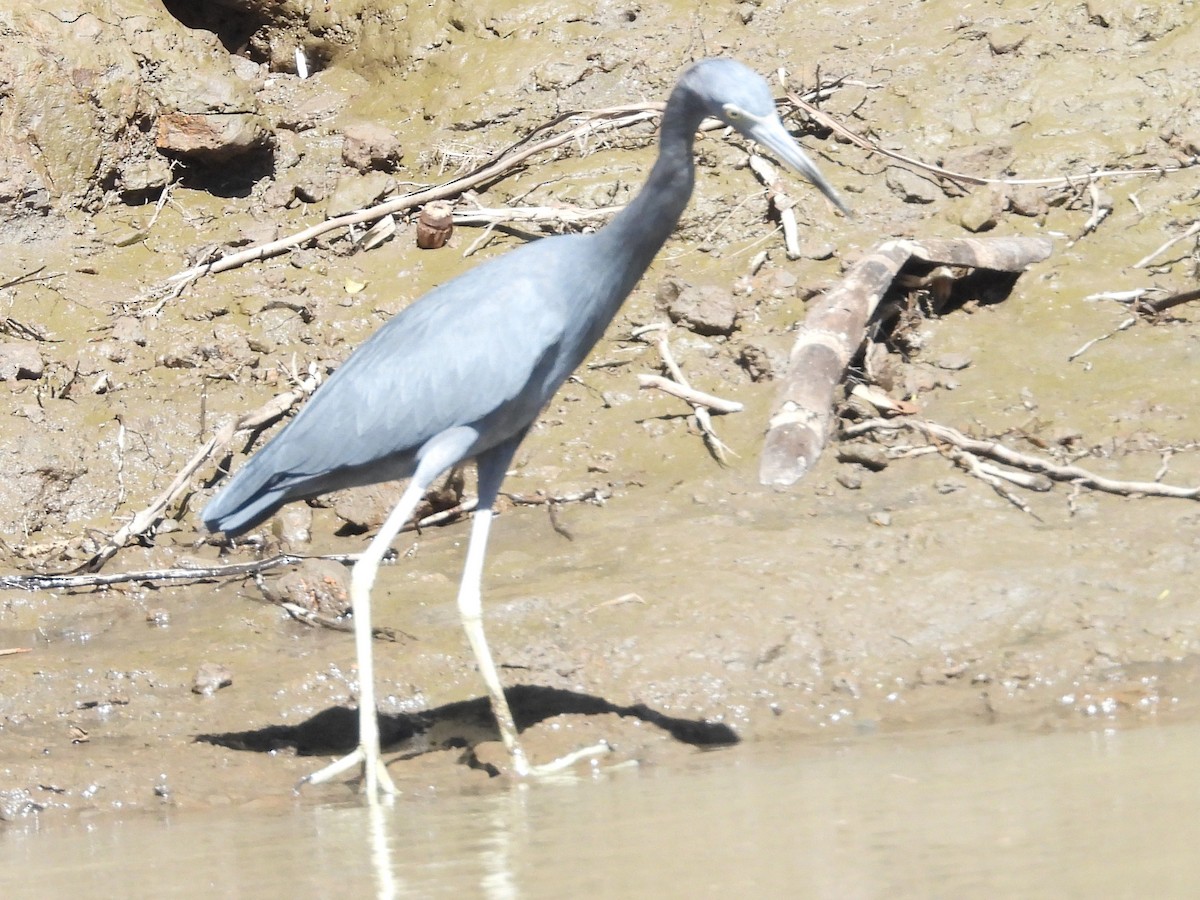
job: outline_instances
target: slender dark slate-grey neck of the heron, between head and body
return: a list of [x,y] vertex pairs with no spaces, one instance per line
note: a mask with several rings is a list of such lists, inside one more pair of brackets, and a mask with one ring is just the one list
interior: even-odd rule
[[691,92],[677,88],[662,114],[659,158],[649,178],[637,197],[601,229],[612,242],[613,264],[619,262],[631,276],[625,293],[671,236],[688,205],[695,181],[692,140],[703,118]]

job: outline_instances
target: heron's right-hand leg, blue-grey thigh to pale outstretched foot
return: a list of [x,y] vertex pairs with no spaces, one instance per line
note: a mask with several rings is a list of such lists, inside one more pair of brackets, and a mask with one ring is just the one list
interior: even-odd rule
[[487,686],[487,696],[492,703],[492,715],[496,716],[496,725],[499,727],[504,748],[512,758],[512,770],[521,778],[560,772],[578,760],[596,756],[610,750],[607,744],[598,744],[569,754],[545,766],[530,766],[524,748],[521,746],[521,740],[517,738],[517,726],[512,719],[512,710],[509,708],[509,701],[504,696],[504,685],[500,683],[499,672],[487,647],[487,637],[484,634],[481,586],[484,558],[487,553],[487,535],[492,527],[492,504],[496,502],[500,482],[504,480],[504,474],[512,461],[512,455],[516,452],[517,445],[523,437],[524,432],[500,446],[488,450],[476,460],[479,468],[479,505],[475,508],[475,517],[470,527],[470,540],[467,545],[467,564],[463,568],[462,582],[458,586],[458,616],[462,619],[462,628],[467,632],[467,641],[475,654],[479,674]]

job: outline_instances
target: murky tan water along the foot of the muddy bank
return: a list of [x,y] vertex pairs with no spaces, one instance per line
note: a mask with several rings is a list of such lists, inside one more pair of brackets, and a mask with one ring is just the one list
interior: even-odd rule
[[1184,896],[1198,751],[1193,725],[992,727],[377,806],[17,824],[0,830],[0,896]]

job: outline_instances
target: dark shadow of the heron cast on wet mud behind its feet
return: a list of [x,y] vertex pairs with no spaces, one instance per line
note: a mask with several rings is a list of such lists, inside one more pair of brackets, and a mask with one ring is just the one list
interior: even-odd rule
[[[505,695],[518,731],[558,715],[616,713],[654,725],[676,740],[692,746],[727,746],[739,740],[737,732],[727,725],[670,716],[644,703],[623,707],[589,694],[538,685],[509,688]],[[424,713],[380,715],[379,734],[384,750],[400,751],[404,758],[434,750],[463,749],[467,751],[467,764],[485,768],[493,775],[499,774],[492,766],[478,762],[473,752],[476,744],[499,739],[486,697],[448,703]],[[332,707],[299,725],[268,725],[253,731],[197,734],[196,740],[230,750],[260,754],[294,750],[300,756],[319,756],[350,752],[358,744],[358,712],[349,707]]]

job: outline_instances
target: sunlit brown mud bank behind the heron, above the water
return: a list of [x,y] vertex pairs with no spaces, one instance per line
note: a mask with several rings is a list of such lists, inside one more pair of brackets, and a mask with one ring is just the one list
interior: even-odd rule
[[[844,77],[823,106],[848,127],[986,178],[1174,167],[1200,149],[1200,23],[1184,6],[472,4],[406,20],[395,4],[359,0],[307,18],[292,2],[210,5],[223,12],[205,20],[180,8],[182,22],[169,11],[184,4],[144,6],[0,4],[0,547],[13,574],[86,560],[216,425],[284,390],[292,370],[335,366],[474,264],[462,251],[479,235],[460,228],[446,248],[420,251],[406,223],[365,253],[331,235],[160,307],[148,296],[163,280],[214,248],[444,180],[563,110],[662,98],[689,59],[784,66],[793,84],[817,70]],[[184,131],[166,134],[167,115]],[[384,133],[359,128],[383,143],[349,155],[360,172],[342,136],[364,122]],[[833,139],[805,143],[858,217],[797,182],[811,258],[787,260],[744,148],[702,138],[678,235],[595,350],[614,365],[581,371],[518,455],[512,493],[607,497],[553,517],[514,505],[494,529],[490,635],[520,686],[532,755],[604,737],[619,758],[670,764],[734,737],[1194,720],[1194,502],[1060,486],[1022,494],[1027,514],[937,454],[872,473],[829,452],[775,492],[757,486],[756,455],[773,392],[762,376],[804,300],[883,240],[983,228],[1051,235],[1056,252],[1003,302],[917,323],[910,355],[890,362],[895,392],[920,388],[930,419],[1112,478],[1162,469],[1200,482],[1194,304],[1068,360],[1130,316],[1087,295],[1195,286],[1194,236],[1133,264],[1196,221],[1200,168],[1099,180],[1094,196],[1082,179],[967,192]],[[481,202],[619,203],[653,158],[653,133],[577,150]],[[1085,234],[1097,203],[1111,214]],[[480,257],[518,240],[500,235]],[[769,258],[751,275],[761,250]],[[732,334],[686,318],[672,334],[697,388],[746,406],[718,420],[738,455],[727,468],[678,402],[636,388],[658,362],[629,335],[666,318],[655,295],[667,278],[737,296]],[[211,463],[106,571],[254,558],[198,530],[216,476]],[[324,503],[311,544],[264,529],[262,552],[277,532],[301,552],[356,552],[378,505]],[[486,784],[487,766],[457,764],[454,749],[480,740],[467,756],[503,766],[452,602],[466,529],[402,538],[377,588],[377,624],[398,636],[379,643],[378,674],[385,733],[413,754],[391,766],[402,790]],[[290,619],[253,581],[0,600],[0,650],[29,650],[0,656],[2,820],[283,794],[320,762],[300,754],[353,742],[350,640]],[[228,671],[194,692],[205,664]]]

